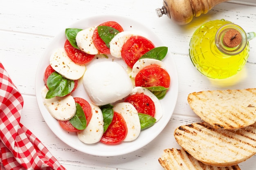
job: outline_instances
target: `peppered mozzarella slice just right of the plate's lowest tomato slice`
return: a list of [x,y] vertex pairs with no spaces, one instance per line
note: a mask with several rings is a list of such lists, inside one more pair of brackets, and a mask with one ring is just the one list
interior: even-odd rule
[[135,140],[139,136],[141,130],[139,115],[136,108],[128,102],[121,102],[115,104],[113,110],[114,112],[120,113],[126,122],[128,132],[124,141]]

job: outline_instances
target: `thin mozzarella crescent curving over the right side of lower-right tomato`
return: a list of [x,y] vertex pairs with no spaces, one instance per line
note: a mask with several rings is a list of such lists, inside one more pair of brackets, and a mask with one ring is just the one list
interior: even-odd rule
[[159,102],[159,99],[157,99],[157,97],[151,91],[143,87],[133,88],[131,95],[141,94],[141,93],[150,97],[150,99],[152,99],[152,101],[154,102],[155,104],[154,118],[156,119],[156,122],[157,122],[163,116],[163,110],[162,110],[161,103]]

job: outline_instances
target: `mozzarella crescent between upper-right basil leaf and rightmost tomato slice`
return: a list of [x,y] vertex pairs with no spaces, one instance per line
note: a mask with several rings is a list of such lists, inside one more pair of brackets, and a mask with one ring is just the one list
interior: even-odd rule
[[135,62],[135,64],[133,65],[131,77],[135,78],[136,75],[139,73],[139,71],[141,71],[142,68],[152,65],[152,64],[157,64],[164,69],[166,68],[164,62],[162,62],[160,60],[156,60],[153,58],[143,58],[143,59],[140,59],[137,62]]

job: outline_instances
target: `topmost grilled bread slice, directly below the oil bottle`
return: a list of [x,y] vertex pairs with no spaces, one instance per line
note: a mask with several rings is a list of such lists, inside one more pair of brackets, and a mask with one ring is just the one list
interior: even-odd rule
[[256,122],[256,88],[194,92],[188,102],[214,128],[237,129]]

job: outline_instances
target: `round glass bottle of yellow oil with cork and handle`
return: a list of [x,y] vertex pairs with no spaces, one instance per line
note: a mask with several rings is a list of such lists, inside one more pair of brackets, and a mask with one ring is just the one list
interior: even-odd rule
[[245,31],[227,20],[204,23],[193,34],[189,55],[194,66],[203,75],[225,79],[235,75],[249,57],[249,40],[256,33]]

